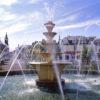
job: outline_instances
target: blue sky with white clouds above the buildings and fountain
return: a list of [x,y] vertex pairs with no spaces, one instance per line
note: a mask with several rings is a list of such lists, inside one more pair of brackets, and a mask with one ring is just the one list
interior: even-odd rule
[[0,0],[0,39],[7,32],[10,50],[45,37],[52,20],[61,38],[68,35],[100,38],[100,0]]

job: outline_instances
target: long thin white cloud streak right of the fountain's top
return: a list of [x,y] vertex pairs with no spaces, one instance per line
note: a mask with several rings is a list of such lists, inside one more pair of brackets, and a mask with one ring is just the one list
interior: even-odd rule
[[85,28],[85,29],[87,29],[88,27],[90,27],[92,25],[98,25],[98,24],[100,24],[100,19],[88,20],[88,21],[84,21],[84,22],[76,23],[76,24],[72,24],[72,25],[57,26],[55,29],[60,29],[60,30],[75,29],[75,28]]

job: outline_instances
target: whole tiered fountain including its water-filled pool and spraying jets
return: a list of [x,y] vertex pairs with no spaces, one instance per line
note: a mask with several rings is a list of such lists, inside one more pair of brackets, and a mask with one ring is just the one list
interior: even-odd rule
[[[32,54],[36,55],[36,59],[29,62],[36,68],[38,75],[35,72],[29,74],[24,72],[21,60],[18,59],[25,48],[22,46],[13,56],[5,77],[0,76],[0,100],[100,100],[99,75],[80,73],[81,77],[79,77],[78,73],[62,74],[64,67],[72,63],[58,59],[64,52],[55,49],[53,38],[57,33],[52,32],[55,24],[49,21],[45,26],[48,30],[43,33],[47,38],[46,44],[38,42],[34,45]],[[93,47],[92,43],[91,46]],[[22,75],[15,73],[10,76],[9,73],[15,62],[18,63]],[[54,90],[57,92],[60,90],[61,94]]]

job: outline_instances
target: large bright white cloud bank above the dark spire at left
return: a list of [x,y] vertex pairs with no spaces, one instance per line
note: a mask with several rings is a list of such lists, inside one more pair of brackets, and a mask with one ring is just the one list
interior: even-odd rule
[[[4,17],[5,15],[6,17]],[[0,16],[0,20],[3,21],[3,24],[0,23],[0,36],[3,37],[6,32],[8,32],[8,34],[22,31],[25,32],[25,30],[30,28],[34,23],[36,26],[38,22],[41,22],[43,20],[43,16],[37,11],[21,16],[11,12],[5,12],[5,14]]]

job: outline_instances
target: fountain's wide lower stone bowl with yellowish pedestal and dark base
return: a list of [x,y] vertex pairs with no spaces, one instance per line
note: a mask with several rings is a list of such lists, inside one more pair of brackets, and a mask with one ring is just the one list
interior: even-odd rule
[[[63,61],[53,61],[51,62],[30,62],[30,65],[36,67],[36,71],[38,74],[38,80],[36,80],[36,84],[38,87],[46,87],[48,89],[57,89],[58,83],[55,75],[55,71],[53,65],[57,65],[59,70],[59,77],[63,72],[63,69],[66,65],[72,64],[71,62],[63,62]],[[61,77],[60,77],[61,78]],[[61,79],[60,79],[61,80]],[[62,86],[64,86],[64,80],[61,80]]]

